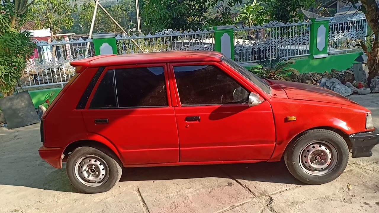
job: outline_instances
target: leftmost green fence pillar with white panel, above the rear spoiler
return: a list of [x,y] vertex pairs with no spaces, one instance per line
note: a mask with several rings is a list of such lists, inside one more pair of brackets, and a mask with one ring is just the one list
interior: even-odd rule
[[96,55],[117,54],[116,34],[93,34],[92,41]]

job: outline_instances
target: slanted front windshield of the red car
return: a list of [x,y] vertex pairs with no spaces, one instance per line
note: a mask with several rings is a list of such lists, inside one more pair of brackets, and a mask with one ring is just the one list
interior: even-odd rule
[[236,63],[235,61],[231,60],[228,57],[223,57],[222,61],[224,61],[226,64],[228,64],[230,67],[235,69],[237,72],[239,72],[241,75],[249,79],[252,83],[257,85],[260,89],[262,89],[267,94],[270,94],[271,87],[263,81],[258,76],[254,75],[252,72],[247,70],[245,67],[241,66],[240,64]]

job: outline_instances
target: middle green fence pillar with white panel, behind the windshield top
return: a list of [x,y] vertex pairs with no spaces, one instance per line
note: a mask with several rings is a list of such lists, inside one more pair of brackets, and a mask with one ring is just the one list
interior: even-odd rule
[[234,26],[216,26],[213,29],[215,30],[215,51],[234,60]]

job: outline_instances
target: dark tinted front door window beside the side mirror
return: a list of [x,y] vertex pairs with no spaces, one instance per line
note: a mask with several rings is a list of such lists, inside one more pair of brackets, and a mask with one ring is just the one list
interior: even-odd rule
[[182,105],[237,103],[233,92],[241,86],[216,66],[181,66],[174,72]]

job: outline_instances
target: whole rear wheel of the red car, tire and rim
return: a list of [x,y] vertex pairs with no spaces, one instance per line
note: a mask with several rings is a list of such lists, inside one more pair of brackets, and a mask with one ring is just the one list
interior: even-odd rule
[[101,193],[113,188],[122,169],[112,153],[93,147],[78,147],[67,159],[67,177],[83,193]]

